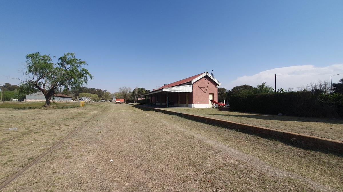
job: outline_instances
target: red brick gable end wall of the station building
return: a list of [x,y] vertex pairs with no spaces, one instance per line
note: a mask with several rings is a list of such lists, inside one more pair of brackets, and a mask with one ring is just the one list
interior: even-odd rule
[[[207,90],[205,90],[207,85],[209,86]],[[213,99],[218,101],[218,89],[216,85],[217,83],[207,76],[193,83],[193,102],[190,102],[190,104],[209,104],[210,93],[213,93]],[[204,93],[204,91],[206,91],[206,93]]]

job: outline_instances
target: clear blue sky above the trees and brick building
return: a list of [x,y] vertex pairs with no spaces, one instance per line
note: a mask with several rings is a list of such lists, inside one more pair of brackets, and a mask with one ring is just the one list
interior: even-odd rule
[[[152,89],[212,69],[225,88],[264,80],[273,85],[273,74],[254,77],[275,68],[280,74],[341,73],[342,7],[342,0],[1,0],[0,84],[19,83],[7,76],[20,78],[25,55],[35,52],[75,52],[94,76],[88,87],[110,92]],[[313,78],[284,79],[278,86],[330,75]]]

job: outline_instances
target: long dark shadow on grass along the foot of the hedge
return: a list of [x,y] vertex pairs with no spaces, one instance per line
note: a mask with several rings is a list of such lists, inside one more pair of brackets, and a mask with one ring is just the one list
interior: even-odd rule
[[298,122],[317,122],[317,123],[331,123],[331,124],[343,124],[343,120],[339,119],[325,119],[325,118],[306,118],[297,116],[278,116],[278,115],[266,115],[266,114],[209,114],[208,115],[220,115],[220,116],[231,116],[251,119],[262,119],[262,120],[274,120],[274,121],[298,121]]

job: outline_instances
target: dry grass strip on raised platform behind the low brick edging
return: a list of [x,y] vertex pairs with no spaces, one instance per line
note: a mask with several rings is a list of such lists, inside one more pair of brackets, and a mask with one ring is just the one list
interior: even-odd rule
[[278,116],[210,108],[171,107],[167,110],[343,141],[343,120],[339,119]]

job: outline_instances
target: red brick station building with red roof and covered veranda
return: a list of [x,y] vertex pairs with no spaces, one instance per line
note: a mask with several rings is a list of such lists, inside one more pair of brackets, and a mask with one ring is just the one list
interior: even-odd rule
[[155,105],[167,105],[168,102],[168,106],[207,108],[211,107],[209,99],[218,100],[220,85],[210,73],[204,72],[139,96]]

